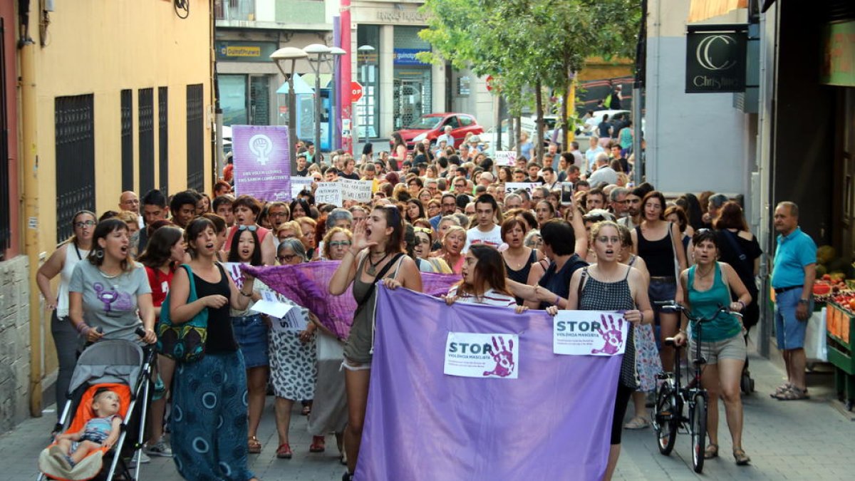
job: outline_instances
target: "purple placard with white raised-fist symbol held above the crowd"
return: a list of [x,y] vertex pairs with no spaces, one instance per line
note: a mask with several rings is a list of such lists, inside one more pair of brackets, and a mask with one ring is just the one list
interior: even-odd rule
[[234,192],[256,199],[291,199],[291,153],[285,126],[235,125]]

